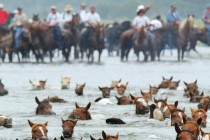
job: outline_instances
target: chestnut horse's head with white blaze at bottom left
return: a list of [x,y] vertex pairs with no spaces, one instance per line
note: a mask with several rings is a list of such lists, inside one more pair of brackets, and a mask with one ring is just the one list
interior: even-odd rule
[[48,140],[47,138],[47,124],[36,124],[28,120],[28,123],[31,127],[32,139],[34,140]]

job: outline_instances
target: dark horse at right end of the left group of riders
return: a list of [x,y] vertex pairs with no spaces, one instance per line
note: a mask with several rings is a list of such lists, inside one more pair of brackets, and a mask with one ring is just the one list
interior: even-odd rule
[[86,31],[82,31],[79,41],[82,61],[83,53],[87,50],[88,62],[93,63],[94,51],[97,50],[99,53],[98,62],[101,62],[101,53],[105,48],[104,37],[105,32],[103,24],[98,24],[95,28],[89,27]]

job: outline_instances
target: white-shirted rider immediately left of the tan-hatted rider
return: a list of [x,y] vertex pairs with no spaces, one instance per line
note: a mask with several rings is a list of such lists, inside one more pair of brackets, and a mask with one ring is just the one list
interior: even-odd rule
[[60,23],[60,14],[57,13],[56,6],[51,6],[51,13],[47,17],[47,25],[48,27],[52,27],[53,35],[58,48],[61,48],[61,29],[59,27]]

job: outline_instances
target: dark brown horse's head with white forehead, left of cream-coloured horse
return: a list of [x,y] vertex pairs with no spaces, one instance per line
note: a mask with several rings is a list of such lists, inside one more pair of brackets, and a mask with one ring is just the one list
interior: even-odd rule
[[136,114],[144,115],[149,113],[149,105],[145,98],[139,97],[135,102],[135,104],[136,104]]

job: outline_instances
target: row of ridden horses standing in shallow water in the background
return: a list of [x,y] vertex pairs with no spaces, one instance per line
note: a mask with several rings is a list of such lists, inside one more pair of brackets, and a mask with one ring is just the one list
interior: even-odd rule
[[[12,17],[12,16],[10,16]],[[11,18],[8,19],[8,21]],[[144,55],[144,61],[154,61],[156,57],[160,60],[161,51],[166,45],[176,47],[178,51],[178,60],[184,59],[184,53],[188,50],[197,52],[195,46],[197,41],[207,44],[207,31],[205,28],[195,26],[193,16],[188,16],[180,24],[164,24],[163,27],[149,32],[149,26],[143,26],[138,32],[132,28],[130,21],[122,23],[114,22],[111,24],[98,24],[91,32],[86,34],[87,28],[80,23],[79,15],[74,14],[71,22],[66,23],[66,28],[62,29],[61,46],[58,47],[57,40],[44,21],[40,21],[39,15],[33,15],[33,20],[26,23],[25,30],[20,37],[20,48],[14,48],[14,31],[10,28],[0,27],[0,49],[2,61],[5,61],[5,55],[8,54],[9,61],[12,62],[12,56],[18,55],[18,61],[21,62],[20,54],[23,60],[29,60],[30,52],[35,56],[37,62],[43,62],[44,57],[49,56],[50,62],[53,61],[55,50],[61,50],[66,62],[70,59],[71,48],[74,47],[74,58],[84,59],[84,53],[87,55],[88,62],[94,61],[94,51],[99,53],[98,62],[101,61],[101,53],[107,47],[109,55],[116,51],[128,61],[129,52],[133,48],[139,61],[140,52]],[[168,40],[168,32],[175,35],[173,41]],[[134,34],[136,37],[134,38]]]

